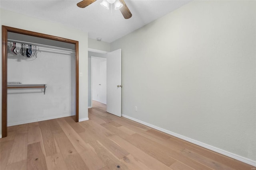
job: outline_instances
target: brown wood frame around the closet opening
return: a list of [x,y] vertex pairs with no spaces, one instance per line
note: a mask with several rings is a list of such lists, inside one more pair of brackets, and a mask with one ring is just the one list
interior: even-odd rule
[[8,32],[30,35],[34,37],[40,37],[40,38],[51,39],[56,41],[62,41],[65,43],[71,43],[75,45],[75,56],[76,56],[76,120],[75,121],[78,122],[78,116],[79,116],[79,113],[78,113],[78,102],[79,102],[78,41],[2,25],[2,137],[7,136],[7,33]]

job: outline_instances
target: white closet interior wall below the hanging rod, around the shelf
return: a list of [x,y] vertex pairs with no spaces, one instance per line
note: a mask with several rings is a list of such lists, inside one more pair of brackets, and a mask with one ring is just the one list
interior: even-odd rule
[[47,84],[42,89],[8,89],[8,126],[75,114],[74,53],[47,50],[37,58],[8,54],[8,82]]

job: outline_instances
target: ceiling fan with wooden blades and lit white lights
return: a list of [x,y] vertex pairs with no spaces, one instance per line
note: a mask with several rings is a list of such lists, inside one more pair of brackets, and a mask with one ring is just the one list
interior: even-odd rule
[[[76,5],[80,8],[85,8],[86,6],[92,4],[96,0],[82,0],[78,2]],[[126,6],[124,0],[103,0],[100,3],[102,6],[108,9],[109,4],[114,4],[115,9],[119,9],[124,16],[125,19],[129,19],[132,17],[132,13],[130,12],[129,8]]]

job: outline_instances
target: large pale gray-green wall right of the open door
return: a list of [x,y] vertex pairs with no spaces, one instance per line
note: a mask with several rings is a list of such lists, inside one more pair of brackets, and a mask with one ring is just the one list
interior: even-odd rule
[[111,43],[122,114],[256,161],[255,9],[193,1]]

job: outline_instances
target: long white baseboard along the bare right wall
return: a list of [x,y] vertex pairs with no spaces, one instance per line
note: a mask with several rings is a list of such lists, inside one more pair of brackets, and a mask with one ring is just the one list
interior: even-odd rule
[[158,131],[162,131],[162,132],[164,132],[164,133],[167,133],[167,134],[169,134],[169,135],[178,137],[178,138],[183,139],[183,140],[185,140],[185,141],[194,143],[194,144],[199,145],[199,146],[201,146],[201,147],[204,147],[204,148],[206,148],[206,149],[210,149],[210,150],[213,150],[213,151],[218,152],[218,153],[220,153],[220,154],[224,154],[224,155],[226,155],[226,156],[228,156],[228,157],[230,157],[230,158],[234,158],[234,159],[236,159],[236,160],[240,160],[241,162],[244,162],[244,163],[246,163],[246,164],[250,164],[250,165],[252,165],[252,166],[256,166],[256,161],[254,161],[254,160],[250,160],[250,159],[248,159],[248,158],[244,158],[244,157],[242,157],[242,156],[239,156],[239,155],[237,155],[237,154],[233,154],[233,153],[228,152],[228,151],[226,151],[226,150],[222,150],[222,149],[213,147],[213,146],[211,146],[211,145],[202,143],[202,142],[200,142],[200,141],[196,141],[196,140],[194,140],[194,139],[190,139],[190,138],[188,138],[188,137],[179,135],[178,133],[174,133],[174,132],[172,132],[172,131],[168,131],[168,130],[163,129],[163,128],[161,128],[161,127],[157,127],[157,126],[155,126],[155,125],[151,125],[151,124],[149,124],[149,123],[146,123],[146,122],[144,122],[144,121],[140,121],[140,120],[138,120],[138,119],[134,119],[133,117],[130,117],[130,116],[127,116],[127,115],[123,115],[123,114],[122,114],[122,117],[125,117],[125,118],[127,118],[127,119],[136,121],[136,122],[141,123],[141,124],[143,124],[143,125],[146,125],[146,126],[148,126],[148,127],[152,127],[153,129],[156,129],[156,130],[158,130]]

